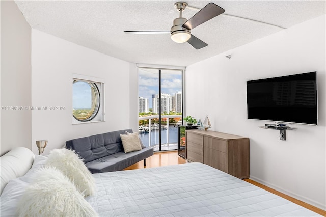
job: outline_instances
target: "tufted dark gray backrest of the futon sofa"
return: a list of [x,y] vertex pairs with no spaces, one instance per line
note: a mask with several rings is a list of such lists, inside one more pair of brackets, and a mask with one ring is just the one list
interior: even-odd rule
[[118,152],[124,152],[120,134],[125,134],[126,131],[132,133],[132,129],[125,129],[91,135],[66,141],[66,146],[75,150],[87,163]]

